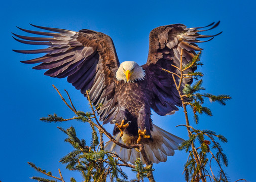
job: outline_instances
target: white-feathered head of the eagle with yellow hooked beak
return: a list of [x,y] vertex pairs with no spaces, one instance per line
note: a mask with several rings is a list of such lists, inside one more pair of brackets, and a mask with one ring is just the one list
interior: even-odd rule
[[117,80],[124,80],[125,83],[140,81],[143,80],[144,77],[145,71],[134,61],[121,63],[116,73]]

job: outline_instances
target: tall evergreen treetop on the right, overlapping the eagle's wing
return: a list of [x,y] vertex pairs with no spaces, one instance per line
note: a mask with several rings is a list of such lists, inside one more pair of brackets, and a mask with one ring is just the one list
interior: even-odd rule
[[[179,150],[185,150],[187,153],[189,153],[188,160],[184,167],[185,180],[188,182],[205,182],[207,180],[226,182],[228,181],[228,177],[223,170],[223,165],[228,166],[228,159],[223,153],[221,144],[218,141],[226,143],[228,142],[227,139],[223,135],[216,134],[211,130],[195,129],[190,125],[188,116],[187,106],[190,106],[193,112],[194,121],[196,124],[198,124],[198,114],[212,116],[211,110],[208,107],[203,106],[205,99],[208,99],[210,102],[216,101],[222,105],[225,105],[226,101],[231,99],[231,97],[228,95],[214,96],[211,94],[202,93],[202,91],[205,90],[205,88],[202,86],[203,73],[189,72],[188,74],[185,74],[185,71],[191,67],[202,66],[202,63],[199,62],[200,56],[201,52],[194,57],[191,63],[184,66],[182,64],[181,50],[181,64],[178,68],[180,74],[173,74],[172,72],[167,71],[172,74],[173,81],[176,85],[176,89],[179,93],[182,106],[184,108],[186,124],[181,124],[178,126],[185,126],[189,135],[189,139],[179,146]],[[185,84],[185,87],[182,89],[182,80],[188,78],[193,78],[196,80],[196,82],[193,85]],[[213,171],[212,159],[215,160],[217,164],[217,173]],[[214,169],[216,169],[216,167]]]

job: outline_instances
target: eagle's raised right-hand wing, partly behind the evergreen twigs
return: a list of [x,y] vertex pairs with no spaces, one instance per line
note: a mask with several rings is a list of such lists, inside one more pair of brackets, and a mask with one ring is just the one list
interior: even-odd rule
[[[218,26],[220,22],[216,24],[211,23],[208,26],[212,26],[210,30]],[[195,51],[202,50],[196,43],[206,42],[211,40],[216,35],[201,35],[199,32],[206,30],[199,30],[205,27],[187,28],[182,24],[173,24],[167,26],[160,26],[153,29],[150,32],[150,49],[147,64],[143,65],[143,68],[148,70],[151,75],[151,79],[154,82],[153,93],[154,101],[152,108],[159,115],[173,114],[178,110],[176,106],[181,106],[180,97],[176,90],[172,76],[163,71],[162,68],[180,74],[180,71],[175,67],[180,67],[180,54],[182,51],[182,64],[185,66],[189,62],[192,62]],[[222,32],[221,32],[222,33]],[[208,40],[201,41],[200,38],[209,38]],[[188,72],[194,72],[196,67],[186,70]],[[177,83],[179,82],[176,77]],[[183,79],[182,87],[185,84],[191,84],[192,78]]]

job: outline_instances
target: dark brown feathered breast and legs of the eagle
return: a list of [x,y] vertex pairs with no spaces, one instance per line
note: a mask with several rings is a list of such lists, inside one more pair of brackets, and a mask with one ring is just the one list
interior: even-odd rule
[[[137,136],[138,128],[146,129],[147,134],[152,130],[151,105],[152,105],[152,86],[153,83],[148,81],[148,74],[145,78],[137,82],[125,83],[124,81],[116,81],[115,89],[117,98],[119,98],[118,113],[115,117],[117,123],[121,123],[122,119],[131,121],[126,133]],[[136,92],[134,92],[136,90]],[[119,129],[115,126],[113,134],[116,135]]]

